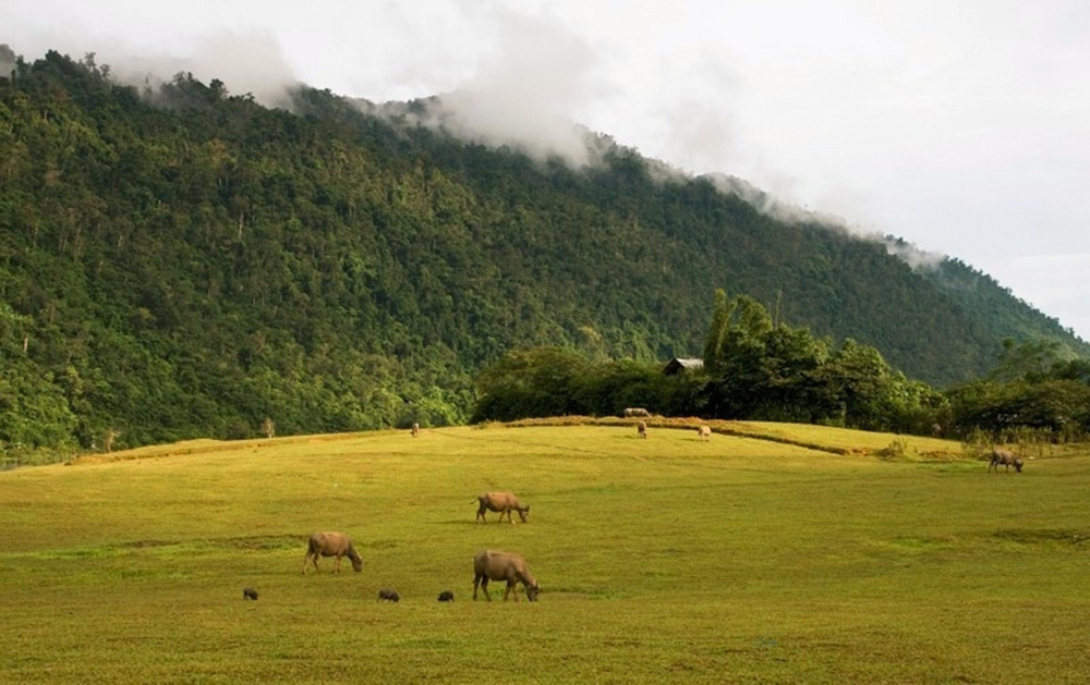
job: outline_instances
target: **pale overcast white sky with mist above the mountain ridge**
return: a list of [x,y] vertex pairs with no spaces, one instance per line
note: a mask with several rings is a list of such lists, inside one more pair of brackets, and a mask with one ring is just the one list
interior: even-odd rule
[[548,145],[577,121],[958,257],[1090,340],[1086,0],[0,0],[0,42],[258,98],[458,91]]

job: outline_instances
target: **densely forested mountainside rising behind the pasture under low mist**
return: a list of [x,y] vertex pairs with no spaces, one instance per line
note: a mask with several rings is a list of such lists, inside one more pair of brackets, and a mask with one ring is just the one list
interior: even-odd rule
[[513,348],[700,355],[718,288],[937,386],[1005,338],[1088,351],[960,261],[913,270],[601,136],[572,169],[325,90],[269,109],[8,53],[3,451],[463,421]]

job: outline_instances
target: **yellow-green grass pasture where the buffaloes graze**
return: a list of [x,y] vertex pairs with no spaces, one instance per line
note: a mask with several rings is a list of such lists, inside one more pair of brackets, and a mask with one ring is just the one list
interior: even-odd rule
[[[0,682],[1087,682],[1090,454],[996,476],[750,426],[197,441],[0,473]],[[474,524],[488,489],[530,523]],[[301,575],[317,529],[352,535],[363,572]],[[473,602],[484,548],[522,553],[541,601]]]

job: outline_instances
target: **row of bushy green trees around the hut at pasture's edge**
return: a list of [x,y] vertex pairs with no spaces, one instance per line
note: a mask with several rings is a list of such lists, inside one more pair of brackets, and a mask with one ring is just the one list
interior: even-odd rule
[[585,351],[509,352],[477,377],[473,420],[616,416],[641,406],[665,416],[798,421],[995,441],[1032,432],[1052,442],[1090,432],[1090,362],[1053,342],[1007,340],[988,378],[940,391],[911,380],[874,347],[834,344],[776,322],[749,295],[718,290],[704,366],[667,376],[661,363],[594,359]]

